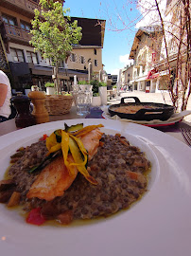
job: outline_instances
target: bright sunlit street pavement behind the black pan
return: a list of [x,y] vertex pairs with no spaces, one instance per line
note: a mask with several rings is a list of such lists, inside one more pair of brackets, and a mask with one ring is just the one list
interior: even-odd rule
[[[140,101],[143,102],[156,102],[156,103],[165,103],[165,104],[172,104],[170,100],[170,96],[167,92],[165,93],[146,93],[141,91],[133,91],[133,92],[121,92],[119,97],[115,97],[113,100],[108,101],[109,104],[116,104],[120,103],[121,98],[123,97],[137,97]],[[164,100],[165,99],[165,100]],[[132,100],[133,101],[133,100]],[[191,110],[191,96],[188,100],[187,110]],[[184,118],[185,121],[190,122],[191,125],[191,115]]]

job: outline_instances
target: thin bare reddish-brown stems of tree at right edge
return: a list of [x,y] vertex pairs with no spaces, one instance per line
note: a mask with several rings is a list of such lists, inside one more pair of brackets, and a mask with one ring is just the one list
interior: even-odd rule
[[[191,93],[191,29],[189,0],[177,1],[169,20],[162,16],[158,1],[155,0],[165,45],[165,66],[167,88],[176,109],[185,110]],[[175,66],[170,58],[176,58]],[[174,69],[174,70],[173,70]]]

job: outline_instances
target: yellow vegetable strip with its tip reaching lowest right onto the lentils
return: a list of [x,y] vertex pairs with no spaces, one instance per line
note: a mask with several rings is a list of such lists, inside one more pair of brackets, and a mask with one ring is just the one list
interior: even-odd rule
[[[72,154],[72,156],[75,160],[78,172],[80,174],[84,175],[84,177],[89,182],[91,182],[94,185],[97,185],[98,183],[97,183],[96,179],[93,176],[91,176],[88,173],[87,169],[85,168],[85,164],[87,162],[87,155],[84,155],[85,160],[83,160],[82,155],[81,155],[81,151],[78,148],[78,144],[77,144],[76,140],[73,139],[72,137],[69,137],[69,148],[70,148],[70,152],[71,152],[71,154]],[[70,165],[73,165],[73,164],[70,164]]]

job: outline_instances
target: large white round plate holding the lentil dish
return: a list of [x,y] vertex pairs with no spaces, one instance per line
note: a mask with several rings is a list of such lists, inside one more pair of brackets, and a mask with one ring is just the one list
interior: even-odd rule
[[27,225],[14,210],[0,204],[1,255],[191,255],[191,150],[154,129],[109,119],[70,119],[28,127],[0,137],[0,178],[9,155],[44,133],[68,124],[104,124],[146,152],[152,163],[149,191],[130,210],[84,226]]

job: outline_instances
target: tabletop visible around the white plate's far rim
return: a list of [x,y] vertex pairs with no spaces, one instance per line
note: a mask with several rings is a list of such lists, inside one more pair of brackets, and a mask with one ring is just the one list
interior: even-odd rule
[[[77,114],[76,106],[72,106],[69,113],[66,113],[64,115],[58,115],[58,116],[56,115],[49,116],[49,121],[52,122],[52,121],[58,121],[58,120],[64,120],[64,119],[103,119],[102,114],[103,114],[103,110],[101,109],[101,107],[97,106],[97,107],[91,107],[90,114],[79,116]],[[175,137],[176,139],[179,139],[186,144],[186,141],[182,137],[181,128],[191,129],[191,123],[182,119],[181,121],[175,122],[174,124],[171,124],[171,125],[159,125],[152,128],[157,129],[169,136]],[[11,132],[15,132],[19,129],[21,128],[16,127],[15,119],[9,119],[7,121],[0,123],[0,136],[4,136]]]

